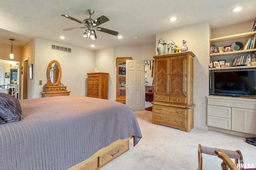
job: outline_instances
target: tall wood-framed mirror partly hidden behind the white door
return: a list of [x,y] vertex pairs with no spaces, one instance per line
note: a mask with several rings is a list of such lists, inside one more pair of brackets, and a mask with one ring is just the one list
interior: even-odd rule
[[132,57],[116,58],[116,102],[126,104],[126,60]]

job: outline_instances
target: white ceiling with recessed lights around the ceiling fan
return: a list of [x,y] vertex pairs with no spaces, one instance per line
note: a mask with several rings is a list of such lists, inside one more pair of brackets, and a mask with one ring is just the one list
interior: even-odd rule
[[[242,11],[231,12],[241,5]],[[83,37],[85,29],[62,30],[83,25],[61,14],[83,21],[90,17],[88,9],[95,11],[92,19],[104,15],[110,20],[100,27],[118,31],[123,38],[96,31],[97,39],[92,40]],[[141,45],[155,42],[158,32],[194,23],[209,21],[210,27],[218,28],[252,21],[255,9],[256,0],[1,0],[0,42],[10,44],[12,38],[13,45],[22,47],[40,37],[92,50]],[[178,20],[168,21],[171,16]]]

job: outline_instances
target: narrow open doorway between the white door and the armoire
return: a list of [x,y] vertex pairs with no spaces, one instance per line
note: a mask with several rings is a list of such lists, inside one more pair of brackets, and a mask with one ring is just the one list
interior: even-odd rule
[[154,97],[154,60],[145,61],[145,110],[152,111]]

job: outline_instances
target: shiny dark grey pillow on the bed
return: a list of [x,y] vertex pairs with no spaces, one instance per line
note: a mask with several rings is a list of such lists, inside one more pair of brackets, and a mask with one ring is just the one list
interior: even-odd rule
[[10,94],[0,93],[0,118],[7,122],[20,121],[21,106]]

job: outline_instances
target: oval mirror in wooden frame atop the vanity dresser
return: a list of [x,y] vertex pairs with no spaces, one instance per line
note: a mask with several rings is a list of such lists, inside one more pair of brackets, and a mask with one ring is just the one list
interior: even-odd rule
[[58,61],[50,61],[47,67],[47,80],[51,86],[58,86],[61,84],[61,67]]

